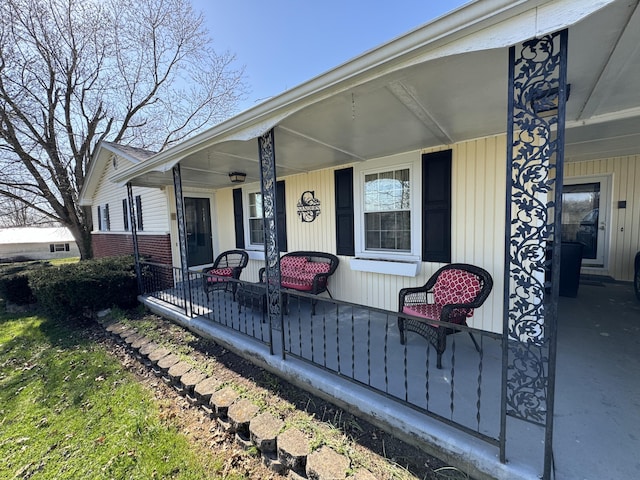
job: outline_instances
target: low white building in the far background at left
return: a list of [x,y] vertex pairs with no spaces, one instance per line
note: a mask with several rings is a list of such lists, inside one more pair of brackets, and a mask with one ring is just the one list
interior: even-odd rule
[[64,227],[0,229],[0,262],[79,257],[73,235]]

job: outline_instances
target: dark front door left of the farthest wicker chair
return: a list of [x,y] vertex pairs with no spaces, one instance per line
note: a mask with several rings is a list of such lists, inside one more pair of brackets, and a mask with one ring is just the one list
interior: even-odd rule
[[184,199],[184,214],[187,226],[187,265],[213,263],[211,239],[211,208],[208,198]]

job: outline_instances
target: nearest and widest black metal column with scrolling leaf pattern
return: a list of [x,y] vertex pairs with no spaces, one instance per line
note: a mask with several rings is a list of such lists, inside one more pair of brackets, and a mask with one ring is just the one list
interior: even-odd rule
[[507,417],[544,435],[551,478],[567,31],[509,51],[504,349],[500,457]]

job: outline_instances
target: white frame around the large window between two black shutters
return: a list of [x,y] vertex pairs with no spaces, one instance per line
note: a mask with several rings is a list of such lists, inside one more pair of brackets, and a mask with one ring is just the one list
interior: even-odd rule
[[[420,199],[422,198],[422,164],[420,154],[414,158],[400,155],[397,158],[385,157],[371,160],[354,166],[353,176],[353,212],[354,212],[354,240],[355,256],[374,260],[395,260],[400,262],[419,262],[422,251],[422,215]],[[409,170],[409,211],[410,211],[410,239],[409,251],[373,250],[367,249],[365,244],[365,178],[367,175]]]

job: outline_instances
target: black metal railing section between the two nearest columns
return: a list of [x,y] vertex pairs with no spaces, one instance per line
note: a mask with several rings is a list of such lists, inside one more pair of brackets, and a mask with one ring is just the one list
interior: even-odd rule
[[407,333],[406,344],[400,343],[397,312],[304,293],[288,297],[288,355],[498,445],[501,335],[456,325],[438,369],[435,348],[423,337]]

